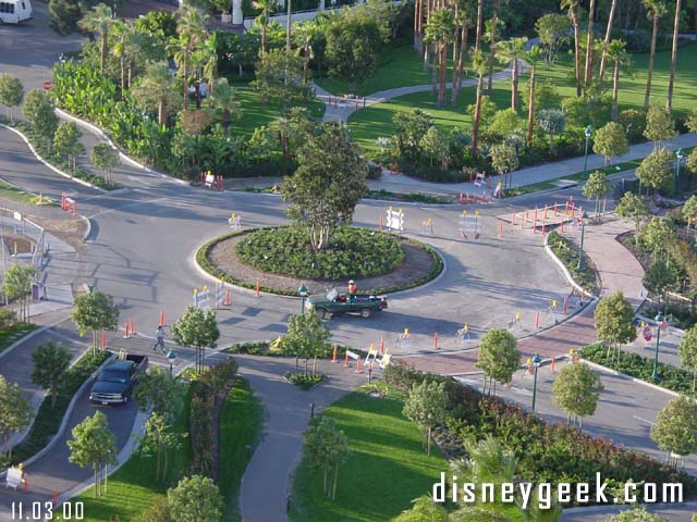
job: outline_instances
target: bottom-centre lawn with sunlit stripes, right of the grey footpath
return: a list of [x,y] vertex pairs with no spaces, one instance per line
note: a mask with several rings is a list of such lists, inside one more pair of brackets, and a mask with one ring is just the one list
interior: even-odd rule
[[321,472],[301,463],[292,521],[390,520],[408,509],[412,499],[431,492],[448,463],[436,449],[430,457],[423,451],[419,427],[402,415],[404,398],[394,389],[386,398],[359,390],[323,411],[348,437],[351,453],[339,470],[335,501],[322,494]]

